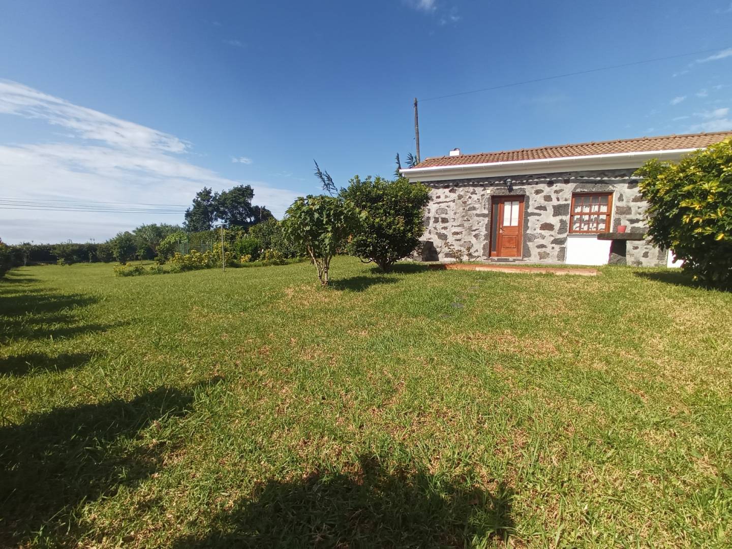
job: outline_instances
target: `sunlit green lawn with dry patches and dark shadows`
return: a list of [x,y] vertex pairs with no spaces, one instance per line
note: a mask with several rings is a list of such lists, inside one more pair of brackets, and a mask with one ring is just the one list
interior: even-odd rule
[[0,282],[0,546],[732,544],[732,294],[334,261]]

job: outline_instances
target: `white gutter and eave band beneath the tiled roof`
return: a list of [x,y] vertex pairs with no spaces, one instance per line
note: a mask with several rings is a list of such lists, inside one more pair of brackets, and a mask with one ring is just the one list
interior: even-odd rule
[[[468,178],[473,176],[524,175],[529,173],[551,173],[551,171],[572,171],[578,168],[609,169],[635,168],[651,158],[676,160],[683,154],[697,151],[695,149],[666,149],[663,151],[616,152],[608,154],[591,154],[586,156],[541,158],[537,160],[506,160],[503,162],[487,162],[477,164],[456,164],[433,166],[430,168],[403,168],[404,176],[419,181],[439,181]],[[561,168],[565,168],[564,170]]]

